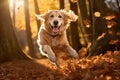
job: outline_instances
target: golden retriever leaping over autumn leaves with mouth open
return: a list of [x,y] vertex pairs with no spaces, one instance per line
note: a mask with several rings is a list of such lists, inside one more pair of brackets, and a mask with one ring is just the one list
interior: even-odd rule
[[57,64],[56,53],[53,50],[56,47],[66,50],[73,58],[79,58],[78,53],[70,46],[66,35],[68,24],[75,22],[78,18],[72,10],[69,12],[50,10],[36,16],[43,22],[37,39],[40,53],[43,56],[47,56],[51,62]]

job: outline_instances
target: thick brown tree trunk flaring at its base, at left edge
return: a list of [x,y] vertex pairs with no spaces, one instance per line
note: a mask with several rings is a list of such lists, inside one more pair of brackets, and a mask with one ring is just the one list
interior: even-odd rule
[[29,59],[17,42],[8,1],[0,0],[0,62],[13,59]]

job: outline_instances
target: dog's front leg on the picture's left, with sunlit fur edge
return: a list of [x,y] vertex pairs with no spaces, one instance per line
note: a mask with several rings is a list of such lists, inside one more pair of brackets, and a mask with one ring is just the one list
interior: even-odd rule
[[41,45],[40,47],[41,49],[41,54],[46,55],[50,61],[52,62],[56,62],[56,56],[55,53],[53,52],[53,50],[51,49],[51,47],[49,45]]

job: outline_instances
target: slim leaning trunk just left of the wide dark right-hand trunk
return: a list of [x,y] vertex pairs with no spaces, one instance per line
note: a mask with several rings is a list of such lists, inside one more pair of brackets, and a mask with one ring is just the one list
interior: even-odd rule
[[[89,15],[88,15],[88,10],[87,10],[87,5],[86,5],[86,0],[78,0],[78,9],[79,9],[79,23],[80,23],[80,30],[81,30],[81,34],[82,34],[82,40],[84,40],[84,44],[85,46],[87,46],[87,42],[91,41],[91,27],[87,27],[86,22],[90,21],[89,19]],[[85,36],[87,35],[87,36]]]

